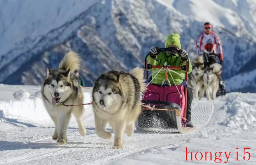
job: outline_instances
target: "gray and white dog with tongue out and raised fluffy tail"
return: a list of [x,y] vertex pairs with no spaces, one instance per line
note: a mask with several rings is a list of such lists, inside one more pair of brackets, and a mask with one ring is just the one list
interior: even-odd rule
[[73,112],[78,123],[78,130],[82,136],[85,136],[86,130],[82,119],[83,106],[65,107],[59,103],[68,105],[82,104],[83,95],[78,84],[78,78],[73,74],[80,67],[79,55],[70,51],[59,64],[59,68],[47,69],[47,75],[44,78],[41,87],[41,93],[44,105],[48,114],[55,124],[53,139],[57,143],[66,144],[66,131]]

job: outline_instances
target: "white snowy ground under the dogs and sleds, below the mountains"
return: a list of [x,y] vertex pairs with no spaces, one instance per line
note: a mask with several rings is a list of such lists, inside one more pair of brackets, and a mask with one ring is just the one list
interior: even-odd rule
[[[14,93],[20,89],[21,91]],[[91,106],[85,106],[87,134],[81,137],[74,118],[68,128],[68,144],[52,140],[50,120],[38,91],[39,86],[8,86],[0,84],[0,164],[256,164],[256,94],[229,93],[215,101],[194,100],[192,121],[197,130],[187,133],[145,134],[135,130],[125,136],[124,148],[112,148],[113,137],[96,136]],[[84,102],[90,102],[91,91],[84,89]],[[111,130],[110,130],[111,131]],[[112,132],[112,131],[111,131]],[[186,161],[186,147],[193,161]],[[250,160],[248,154],[250,153]],[[239,148],[239,149],[236,149]],[[196,152],[203,159],[195,160]],[[212,160],[204,161],[204,152],[212,152]],[[216,152],[223,152],[215,159]],[[224,152],[230,153],[228,163]],[[236,153],[238,159],[235,161]],[[217,158],[218,158],[218,154]],[[227,153],[229,155],[229,153]],[[188,154],[190,160],[190,154]],[[200,154],[197,155],[200,159]],[[215,161],[214,161],[215,160]]]

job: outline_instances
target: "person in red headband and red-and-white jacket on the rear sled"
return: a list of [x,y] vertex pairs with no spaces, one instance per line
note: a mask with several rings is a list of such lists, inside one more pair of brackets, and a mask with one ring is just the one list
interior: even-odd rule
[[212,30],[209,22],[204,23],[204,31],[198,35],[196,40],[196,54],[202,55],[207,45],[211,45],[212,53],[218,55],[220,61],[224,60],[221,40],[219,35]]

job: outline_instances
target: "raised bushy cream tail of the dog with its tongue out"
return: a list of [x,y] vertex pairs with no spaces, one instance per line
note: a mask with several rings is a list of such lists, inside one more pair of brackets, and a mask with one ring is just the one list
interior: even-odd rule
[[65,71],[70,69],[70,72],[78,71],[80,67],[80,57],[74,51],[69,51],[62,61],[60,61],[59,68]]

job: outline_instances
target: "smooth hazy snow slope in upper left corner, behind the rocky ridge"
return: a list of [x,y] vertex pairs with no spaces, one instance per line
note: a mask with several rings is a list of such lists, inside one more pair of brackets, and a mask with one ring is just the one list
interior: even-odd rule
[[43,35],[71,21],[96,2],[95,0],[0,1],[0,43],[5,44],[0,49],[0,55],[17,47],[23,39],[31,45],[35,44]]

